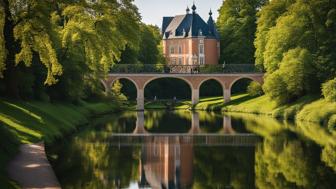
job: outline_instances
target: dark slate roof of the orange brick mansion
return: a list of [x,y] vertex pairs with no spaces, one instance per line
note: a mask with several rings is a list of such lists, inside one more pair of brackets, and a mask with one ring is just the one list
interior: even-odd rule
[[212,16],[210,15],[206,23],[196,12],[175,17],[164,17],[161,32],[164,39],[198,36],[219,39]]

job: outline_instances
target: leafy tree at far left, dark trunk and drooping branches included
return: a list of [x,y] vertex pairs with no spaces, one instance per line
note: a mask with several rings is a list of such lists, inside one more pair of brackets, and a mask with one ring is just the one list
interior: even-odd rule
[[18,96],[16,66],[31,66],[34,53],[47,70],[44,83],[55,84],[62,66],[50,37],[49,2],[2,0],[0,12],[0,76],[5,78],[8,95]]

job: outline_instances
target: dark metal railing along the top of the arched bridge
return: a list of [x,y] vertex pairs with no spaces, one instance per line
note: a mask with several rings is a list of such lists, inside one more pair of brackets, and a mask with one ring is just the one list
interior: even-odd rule
[[261,73],[253,64],[170,65],[170,64],[115,64],[110,73]]

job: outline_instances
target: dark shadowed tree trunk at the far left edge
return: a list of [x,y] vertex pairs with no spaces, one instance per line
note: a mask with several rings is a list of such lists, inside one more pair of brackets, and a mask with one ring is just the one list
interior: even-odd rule
[[4,38],[7,56],[5,60],[6,70],[4,71],[4,81],[6,87],[6,95],[10,98],[19,98],[18,89],[18,70],[15,66],[15,54],[17,53],[18,46],[14,38],[14,21],[11,16],[9,1],[2,0],[5,12],[4,24]]

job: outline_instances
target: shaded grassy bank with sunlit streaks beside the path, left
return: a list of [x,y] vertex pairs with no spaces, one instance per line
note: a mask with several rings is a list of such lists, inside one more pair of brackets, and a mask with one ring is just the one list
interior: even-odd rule
[[6,167],[22,143],[52,142],[85,125],[93,116],[120,110],[113,103],[78,105],[0,99],[0,188],[16,188]]

